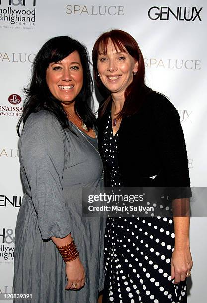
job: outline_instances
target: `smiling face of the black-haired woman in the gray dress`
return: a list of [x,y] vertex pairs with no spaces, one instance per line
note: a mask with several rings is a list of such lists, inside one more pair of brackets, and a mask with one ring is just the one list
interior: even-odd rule
[[59,62],[49,64],[46,82],[55,98],[69,105],[74,101],[83,86],[83,69],[77,51]]

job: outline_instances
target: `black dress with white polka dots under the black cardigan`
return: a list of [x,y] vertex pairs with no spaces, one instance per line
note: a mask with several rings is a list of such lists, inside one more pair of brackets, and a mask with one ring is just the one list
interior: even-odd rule
[[[109,185],[121,187],[117,138],[111,113],[104,130],[103,162]],[[174,285],[170,260],[174,225],[166,217],[109,217],[104,239],[105,286],[103,303],[186,303],[186,280]]]

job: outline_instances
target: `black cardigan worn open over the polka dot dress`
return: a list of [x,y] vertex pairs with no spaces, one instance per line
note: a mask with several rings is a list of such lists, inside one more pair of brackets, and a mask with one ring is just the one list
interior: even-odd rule
[[[98,145],[102,158],[103,127],[111,102],[99,120]],[[179,114],[171,102],[159,93],[148,93],[138,112],[122,119],[117,156],[125,187],[190,187]],[[105,185],[109,186],[109,172],[104,168]],[[155,178],[150,178],[155,175]],[[190,197],[190,190],[187,192],[185,197]]]

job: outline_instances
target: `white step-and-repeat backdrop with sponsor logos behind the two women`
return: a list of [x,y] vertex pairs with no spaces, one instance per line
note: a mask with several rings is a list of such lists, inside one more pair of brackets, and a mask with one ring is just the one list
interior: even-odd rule
[[[16,124],[31,63],[49,38],[72,36],[91,54],[95,39],[114,28],[138,41],[147,84],[179,112],[191,184],[207,186],[206,0],[0,0],[0,293],[12,292],[15,222],[23,196]],[[95,95],[94,100],[97,109]],[[188,302],[206,303],[206,217],[191,218],[190,237]]]

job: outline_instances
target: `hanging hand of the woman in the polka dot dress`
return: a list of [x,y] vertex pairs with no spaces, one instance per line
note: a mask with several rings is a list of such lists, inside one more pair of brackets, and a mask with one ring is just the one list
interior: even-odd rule
[[174,284],[184,281],[192,266],[190,247],[175,248],[171,258],[171,279],[174,279]]

